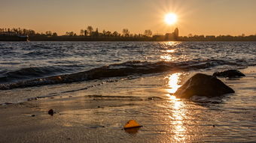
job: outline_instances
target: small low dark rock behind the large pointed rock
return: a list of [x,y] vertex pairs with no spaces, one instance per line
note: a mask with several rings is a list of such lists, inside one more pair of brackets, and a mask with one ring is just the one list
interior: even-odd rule
[[212,76],[233,78],[233,77],[245,76],[245,74],[241,73],[239,70],[224,70],[223,72],[213,73]]

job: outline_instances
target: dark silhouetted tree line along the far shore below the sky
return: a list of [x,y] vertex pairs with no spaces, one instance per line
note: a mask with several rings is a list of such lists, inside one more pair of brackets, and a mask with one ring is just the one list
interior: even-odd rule
[[[170,40],[166,38],[166,35],[153,35],[151,30],[145,30],[144,34],[130,34],[128,28],[123,28],[121,33],[117,31],[111,32],[103,30],[99,32],[98,28],[93,26],[87,26],[87,28],[81,29],[79,34],[74,31],[66,31],[66,34],[58,36],[56,32],[45,31],[45,33],[38,33],[32,29],[26,28],[0,28],[0,34],[20,34],[28,35],[29,40],[138,40],[138,41],[163,41]],[[193,35],[179,36],[175,40],[180,41],[256,41],[256,34],[245,36],[241,34],[239,36],[231,35]]]

